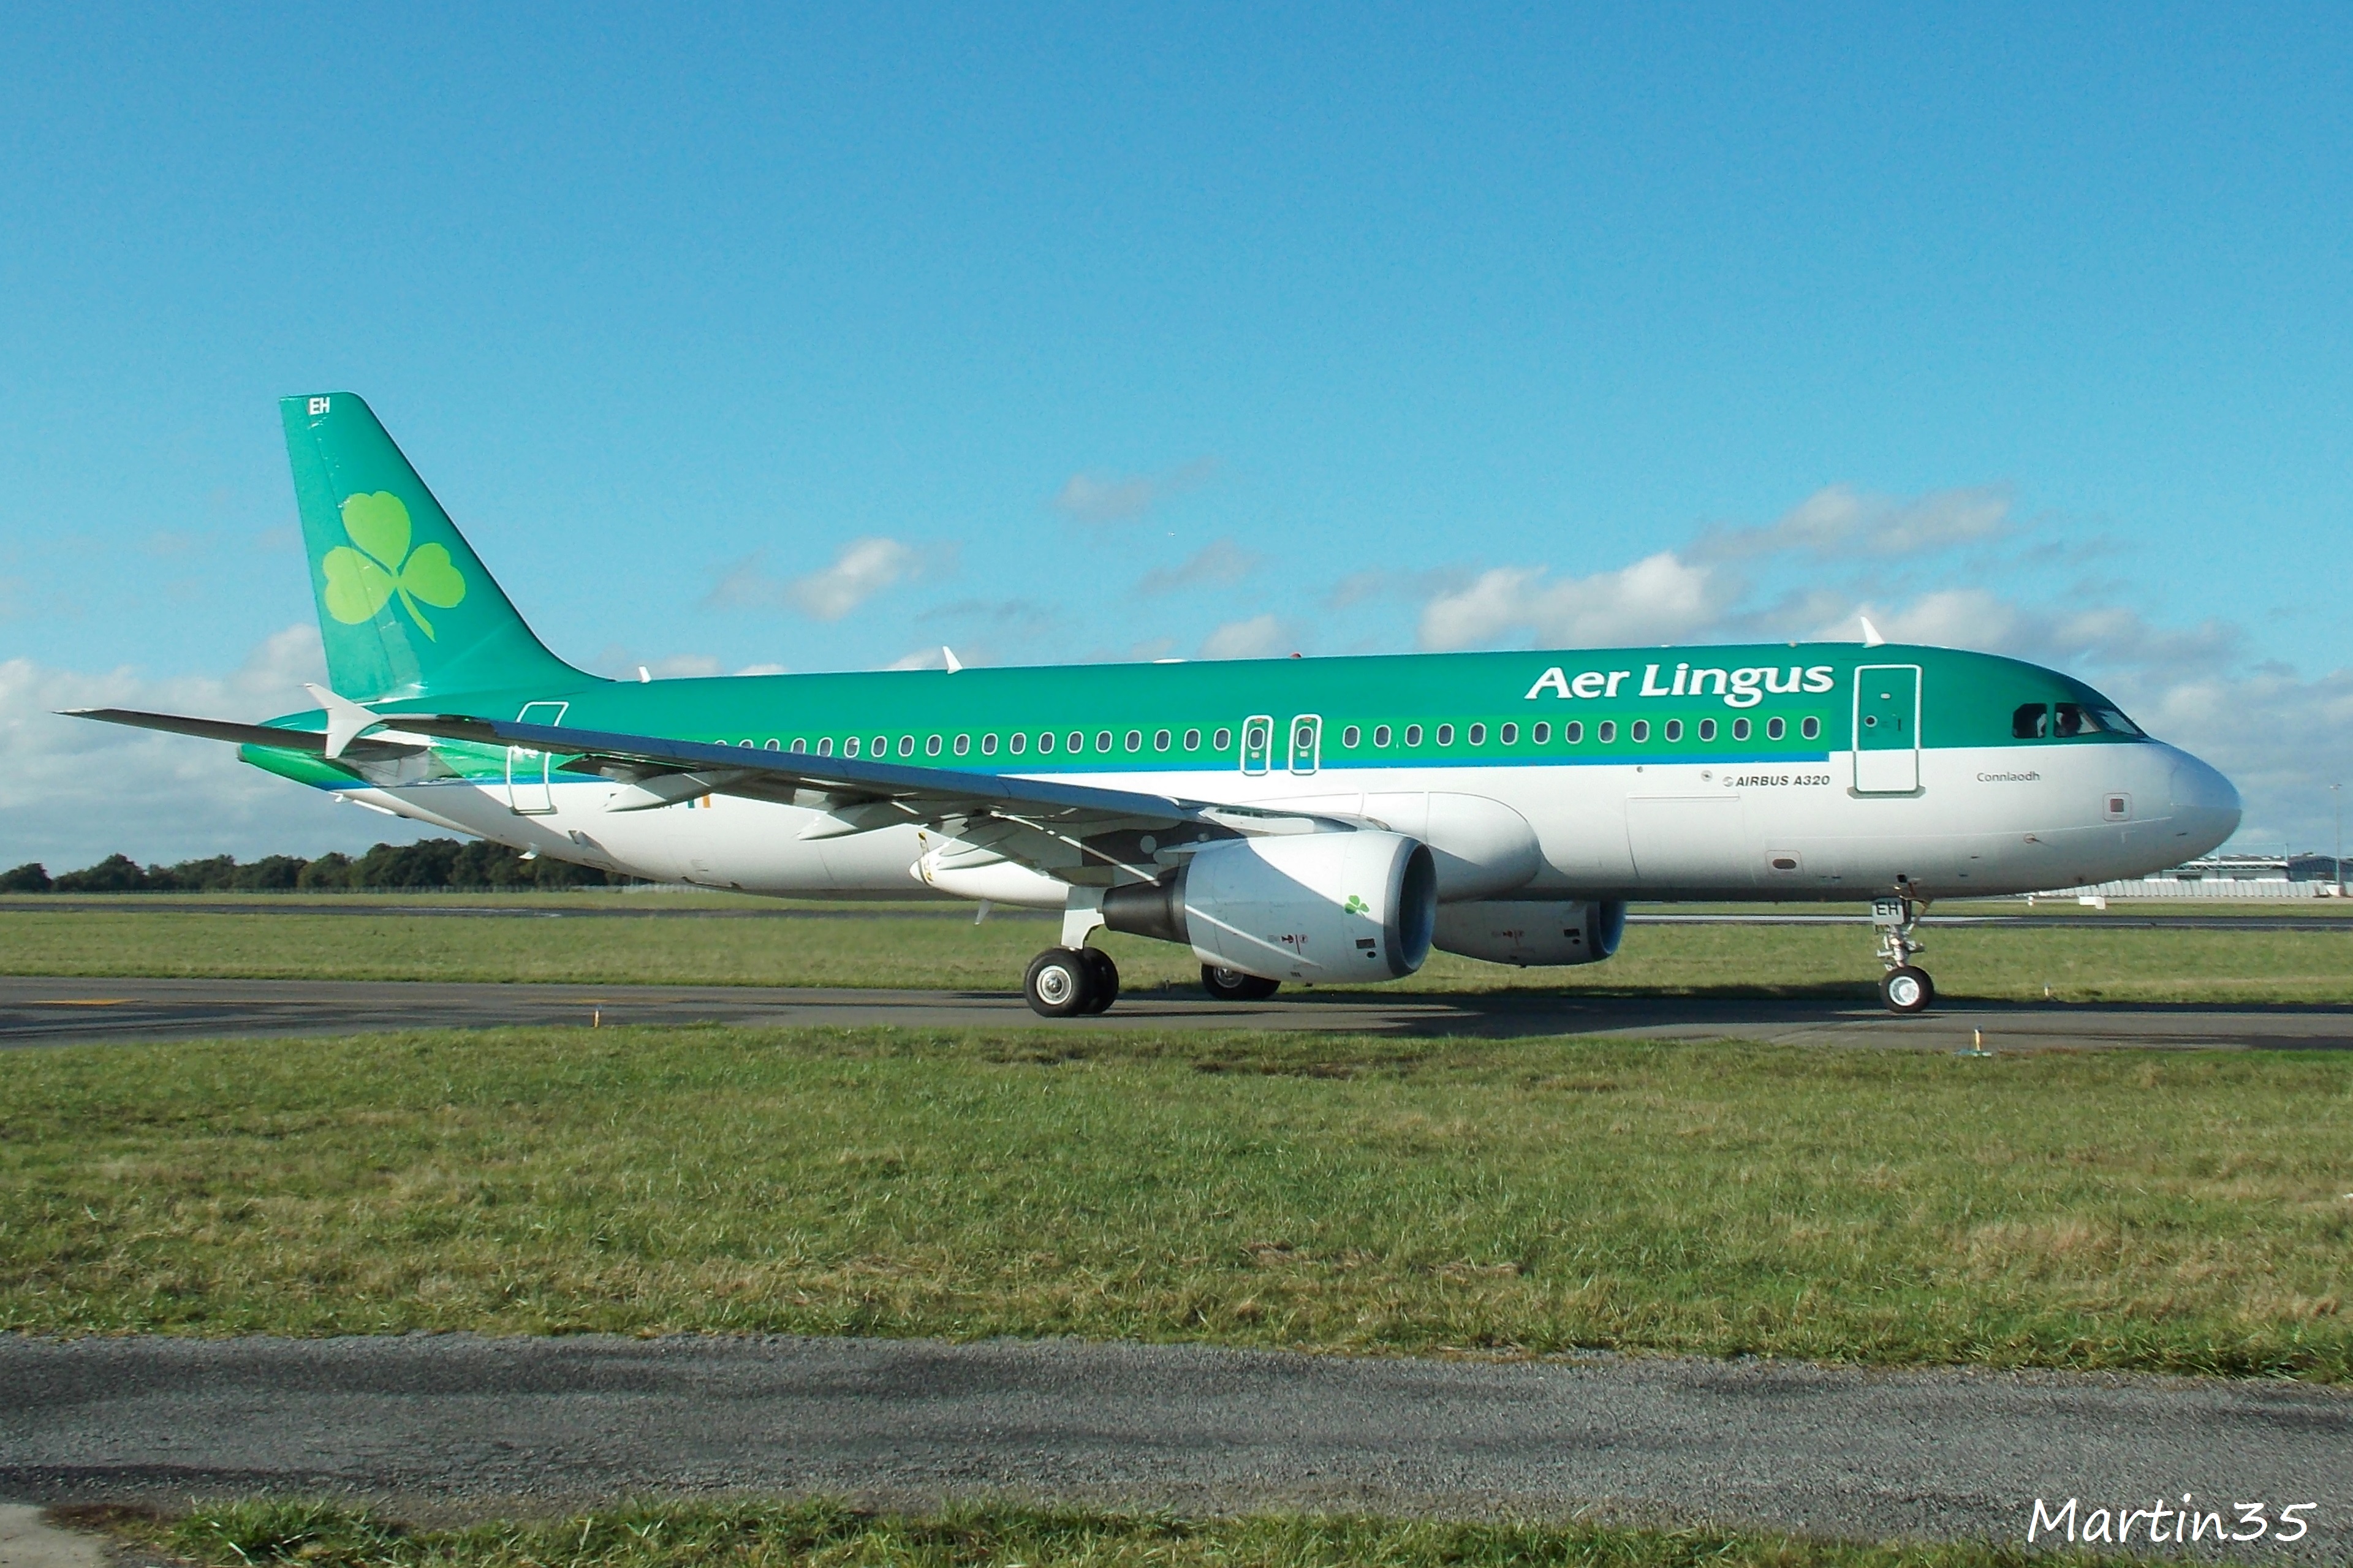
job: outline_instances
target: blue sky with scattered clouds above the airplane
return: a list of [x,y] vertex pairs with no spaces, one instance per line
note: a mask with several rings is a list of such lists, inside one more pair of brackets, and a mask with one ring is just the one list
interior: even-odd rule
[[609,671],[1868,610],[2245,838],[2353,763],[2341,9],[16,7],[0,89],[7,862],[376,836],[42,718],[301,706],[325,388]]

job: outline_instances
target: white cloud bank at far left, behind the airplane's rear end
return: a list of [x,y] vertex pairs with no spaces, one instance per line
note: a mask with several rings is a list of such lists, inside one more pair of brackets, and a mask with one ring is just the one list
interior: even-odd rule
[[315,626],[264,640],[231,676],[0,662],[0,864],[64,871],[115,850],[139,862],[254,859],[421,838],[431,829],[247,768],[235,746],[56,713],[120,706],[254,720],[315,706],[301,687],[325,678]]

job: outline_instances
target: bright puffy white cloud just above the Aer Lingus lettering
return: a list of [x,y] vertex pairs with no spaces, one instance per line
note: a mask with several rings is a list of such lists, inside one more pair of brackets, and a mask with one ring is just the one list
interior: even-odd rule
[[1715,626],[1739,593],[1739,582],[1675,551],[1591,577],[1497,567],[1421,607],[1421,645],[1489,647],[1527,636],[1548,647],[1661,643]]

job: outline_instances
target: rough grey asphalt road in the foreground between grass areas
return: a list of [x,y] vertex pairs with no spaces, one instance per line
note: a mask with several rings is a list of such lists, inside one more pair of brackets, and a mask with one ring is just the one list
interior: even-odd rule
[[2346,1455],[2353,1394],[2278,1382],[1068,1340],[0,1340],[0,1495],[28,1502],[1014,1493],[2021,1540],[2035,1497],[2191,1493],[2313,1502],[2292,1552],[2341,1561]]

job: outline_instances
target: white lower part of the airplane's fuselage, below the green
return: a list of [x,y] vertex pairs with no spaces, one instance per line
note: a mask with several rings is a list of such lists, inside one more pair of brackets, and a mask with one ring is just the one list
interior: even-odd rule
[[[1431,843],[1440,897],[1864,899],[2031,892],[2141,876],[2219,845],[2238,793],[2160,742],[1920,751],[1918,789],[1857,793],[1854,753],[1824,763],[1151,770],[1075,782],[1367,819]],[[1035,772],[1056,779],[1066,775]],[[558,775],[562,779],[562,775]],[[1061,906],[1064,885],[1005,866],[925,876],[953,841],[887,826],[802,838],[819,812],[704,796],[612,810],[626,789],[478,782],[346,796],[522,850],[652,881],[762,895],[946,892]],[[522,810],[518,810],[518,805]],[[541,810],[546,808],[546,810]],[[927,859],[929,857],[929,859]]]

